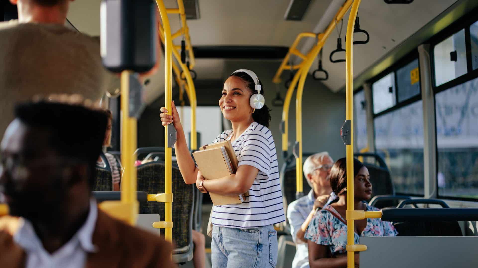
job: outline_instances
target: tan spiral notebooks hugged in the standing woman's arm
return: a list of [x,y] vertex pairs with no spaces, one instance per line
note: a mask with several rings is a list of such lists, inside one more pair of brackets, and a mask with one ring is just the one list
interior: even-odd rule
[[[196,165],[205,179],[213,180],[235,174],[238,160],[230,141],[209,144],[193,153]],[[239,196],[223,196],[209,193],[213,205],[240,204],[246,201],[247,194]]]

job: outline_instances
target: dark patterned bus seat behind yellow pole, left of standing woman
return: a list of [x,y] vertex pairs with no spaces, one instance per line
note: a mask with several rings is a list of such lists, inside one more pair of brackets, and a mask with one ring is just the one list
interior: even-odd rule
[[[164,162],[149,162],[138,167],[138,191],[149,194],[164,192]],[[194,185],[185,184],[179,167],[172,165],[173,192],[173,261],[183,263],[193,258],[193,211],[195,201]],[[164,203],[148,202],[140,205],[140,214],[159,214],[164,220]],[[160,230],[164,235],[164,229]]]

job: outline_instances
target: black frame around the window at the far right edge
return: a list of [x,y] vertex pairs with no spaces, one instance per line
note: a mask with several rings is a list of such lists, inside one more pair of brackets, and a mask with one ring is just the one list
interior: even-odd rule
[[[434,37],[429,40],[430,43],[430,55],[431,60],[431,74],[432,74],[432,89],[433,89],[433,98],[435,103],[435,130],[436,130],[436,94],[440,92],[444,92],[448,89],[451,89],[455,86],[463,84],[465,82],[471,81],[473,79],[478,78],[478,69],[473,71],[473,64],[472,64],[472,55],[471,55],[471,37],[470,37],[470,26],[471,24],[477,22],[478,19],[476,16],[468,16],[464,18],[460,18],[459,20],[455,21],[454,23],[450,24],[447,28],[443,31],[437,33]],[[435,81],[435,56],[434,50],[435,46],[440,42],[444,41],[445,39],[449,38],[453,34],[462,29],[465,30],[465,49],[466,49],[466,56],[467,56],[467,73],[456,77],[455,79],[448,81],[444,84],[436,86]],[[461,201],[472,201],[477,202],[478,198],[471,198],[471,197],[457,197],[457,196],[446,196],[440,195],[440,188],[438,187],[438,134],[435,131],[435,157],[437,163],[435,165],[435,185],[436,185],[436,198],[443,198],[443,199],[450,199],[450,200],[461,200]]]

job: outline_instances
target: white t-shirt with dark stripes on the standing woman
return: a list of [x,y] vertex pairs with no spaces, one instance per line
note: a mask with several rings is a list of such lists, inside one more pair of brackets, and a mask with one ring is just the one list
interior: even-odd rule
[[[230,139],[231,133],[232,130],[226,130],[213,143]],[[271,131],[253,122],[231,144],[238,158],[238,166],[254,166],[259,169],[259,174],[250,187],[245,202],[213,207],[212,224],[253,228],[285,221],[277,153]]]

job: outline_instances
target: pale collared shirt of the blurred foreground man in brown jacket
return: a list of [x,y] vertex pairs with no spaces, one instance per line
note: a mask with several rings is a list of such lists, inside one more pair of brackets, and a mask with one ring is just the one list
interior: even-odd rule
[[98,217],[98,208],[95,199],[90,200],[90,210],[86,222],[63,247],[53,254],[48,253],[33,229],[32,224],[23,219],[23,224],[13,239],[26,252],[25,268],[83,268],[87,254],[96,252],[92,243]]

